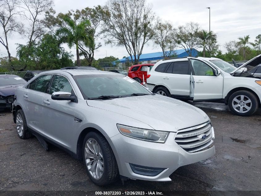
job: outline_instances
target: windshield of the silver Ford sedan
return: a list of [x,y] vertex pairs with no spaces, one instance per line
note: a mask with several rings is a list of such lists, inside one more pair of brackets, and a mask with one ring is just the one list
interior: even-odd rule
[[151,93],[142,85],[124,75],[88,74],[73,76],[84,99],[100,96],[125,96]]

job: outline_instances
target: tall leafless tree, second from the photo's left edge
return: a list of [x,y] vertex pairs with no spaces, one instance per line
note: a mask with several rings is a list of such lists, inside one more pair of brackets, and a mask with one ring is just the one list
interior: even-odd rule
[[29,28],[27,28],[25,34],[29,39],[29,45],[36,39],[40,38],[46,32],[46,23],[41,15],[52,9],[53,0],[21,0],[24,16],[29,22]]

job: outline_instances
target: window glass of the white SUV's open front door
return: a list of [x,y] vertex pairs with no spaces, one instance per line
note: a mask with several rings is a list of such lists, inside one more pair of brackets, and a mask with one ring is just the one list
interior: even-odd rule
[[202,61],[191,59],[192,67],[195,72],[195,76],[214,76],[213,69]]

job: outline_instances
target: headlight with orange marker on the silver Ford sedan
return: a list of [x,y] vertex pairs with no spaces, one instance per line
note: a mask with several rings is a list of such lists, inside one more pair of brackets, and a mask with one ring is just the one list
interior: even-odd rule
[[146,140],[149,142],[164,143],[169,135],[166,131],[155,131],[117,124],[121,134],[135,139]]

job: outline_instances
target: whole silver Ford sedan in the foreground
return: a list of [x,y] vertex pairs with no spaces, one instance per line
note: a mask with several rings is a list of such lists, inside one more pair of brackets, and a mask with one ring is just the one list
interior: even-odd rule
[[90,179],[171,181],[183,165],[215,154],[214,130],[200,109],[153,94],[113,72],[42,72],[15,91],[18,136],[34,134],[82,159]]

